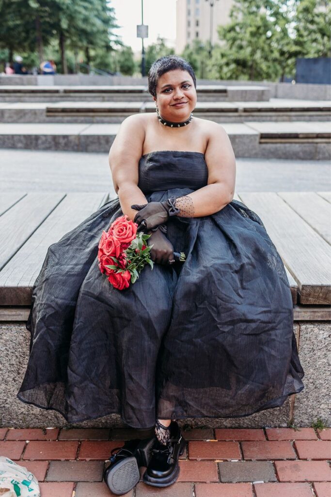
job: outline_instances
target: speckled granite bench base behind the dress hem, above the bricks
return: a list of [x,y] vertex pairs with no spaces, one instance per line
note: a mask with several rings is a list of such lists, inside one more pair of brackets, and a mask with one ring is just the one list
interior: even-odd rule
[[[299,350],[300,362],[305,376],[305,388],[287,398],[284,404],[250,416],[238,418],[186,418],[181,423],[192,427],[238,427],[258,428],[263,426],[286,427],[289,421],[296,426],[309,426],[321,418],[331,424],[330,410],[330,339],[329,323],[295,322],[294,333]],[[44,427],[69,426],[59,413],[45,411],[23,404],[16,398],[21,385],[29,355],[30,333],[25,324],[0,324],[0,426]],[[118,414],[111,414],[92,421],[74,424],[78,426],[124,426]]]

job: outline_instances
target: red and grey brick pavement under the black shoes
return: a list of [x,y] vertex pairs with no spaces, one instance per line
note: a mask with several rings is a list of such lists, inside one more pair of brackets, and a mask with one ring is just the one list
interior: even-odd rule
[[[41,497],[110,497],[102,482],[110,451],[132,429],[0,428],[0,455],[26,466]],[[330,497],[331,429],[219,428],[184,432],[178,481],[139,482],[125,497]],[[140,468],[141,475],[145,468]]]

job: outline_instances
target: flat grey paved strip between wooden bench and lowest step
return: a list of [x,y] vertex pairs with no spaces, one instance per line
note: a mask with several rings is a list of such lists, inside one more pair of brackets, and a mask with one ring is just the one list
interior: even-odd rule
[[[108,154],[0,150],[0,191],[88,191],[116,195]],[[329,161],[237,159],[236,190],[331,190]]]

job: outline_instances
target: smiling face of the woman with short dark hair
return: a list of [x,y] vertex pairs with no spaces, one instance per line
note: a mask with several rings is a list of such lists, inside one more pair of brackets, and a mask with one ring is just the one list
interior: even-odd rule
[[190,73],[175,69],[163,74],[153,99],[165,120],[186,121],[197,104],[197,91]]

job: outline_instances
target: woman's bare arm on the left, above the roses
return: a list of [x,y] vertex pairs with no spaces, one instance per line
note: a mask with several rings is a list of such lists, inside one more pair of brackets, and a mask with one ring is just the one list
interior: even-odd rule
[[119,196],[123,213],[132,221],[137,211],[130,206],[147,203],[145,195],[137,186],[138,162],[142,155],[144,138],[141,116],[134,114],[122,122],[109,152],[114,188]]

